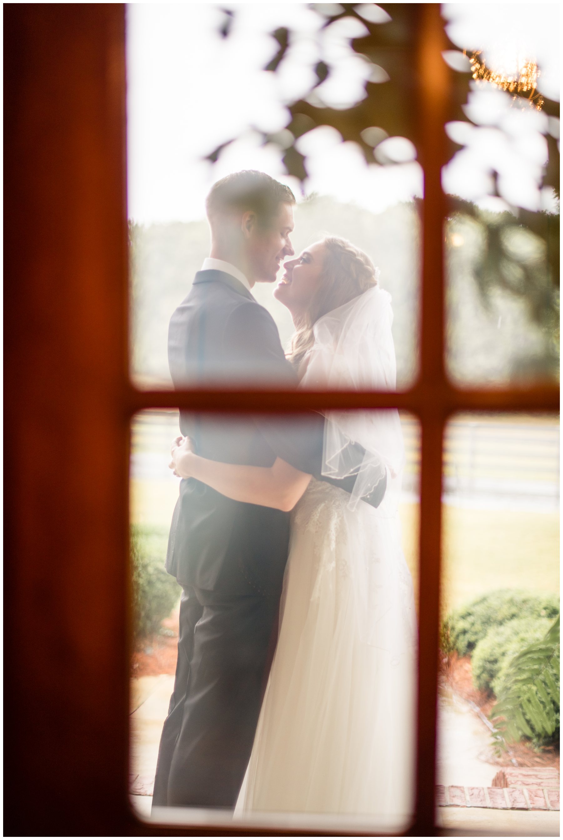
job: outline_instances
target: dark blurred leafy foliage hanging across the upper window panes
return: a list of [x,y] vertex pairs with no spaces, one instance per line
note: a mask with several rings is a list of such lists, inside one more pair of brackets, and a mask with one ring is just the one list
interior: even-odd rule
[[[350,39],[350,48],[366,61],[371,68],[371,76],[364,85],[363,97],[359,102],[351,102],[346,108],[335,108],[323,101],[319,88],[332,76],[334,66],[327,56],[321,56],[313,67],[316,78],[308,94],[295,102],[287,102],[290,119],[286,129],[278,134],[262,135],[263,144],[277,144],[282,150],[282,160],[289,175],[299,181],[308,176],[308,160],[295,148],[297,139],[319,126],[336,129],[343,141],[351,141],[360,147],[366,163],[374,163],[377,144],[387,137],[406,137],[417,146],[417,33],[423,4],[418,3],[311,3],[308,8],[324,18],[321,32],[331,24],[346,18],[360,21],[365,34]],[[229,36],[232,17],[228,26],[224,23],[221,34]],[[266,66],[268,72],[277,72],[284,61],[291,60],[287,55],[292,45],[293,33],[289,27],[281,27],[271,33],[276,40],[278,50]],[[446,63],[450,66],[450,113],[448,121],[459,121],[472,125],[464,111],[471,89],[471,71],[459,47],[448,41]],[[449,57],[449,60],[448,60]],[[515,93],[515,98],[526,94]],[[529,108],[527,102],[521,107]],[[559,116],[559,102],[545,98],[542,107],[551,118]],[[253,127],[254,128],[254,127]],[[257,129],[254,129],[257,130]],[[235,138],[233,138],[235,139]],[[374,139],[373,144],[368,140]],[[542,186],[552,187],[556,197],[560,196],[559,186],[559,150],[557,140],[552,134],[547,135],[549,158],[545,165]],[[232,141],[229,141],[232,142]],[[208,155],[208,160],[218,160],[225,146]],[[462,148],[450,141],[451,154]],[[377,155],[382,165],[392,164],[384,155]],[[497,173],[494,173],[494,192],[497,192]],[[514,208],[513,213],[481,213],[476,205],[458,197],[450,197],[450,213],[456,216],[470,217],[482,230],[484,244],[482,259],[475,268],[475,281],[483,300],[496,288],[509,291],[513,296],[525,298],[529,312],[535,322],[545,330],[545,358],[534,360],[534,375],[551,378],[557,375],[558,359],[558,323],[559,323],[559,217],[555,214]],[[543,242],[536,249],[534,260],[518,256],[508,247],[508,241],[519,231],[529,234]],[[521,373],[524,373],[526,360],[523,360]],[[518,371],[515,372],[518,376]]]

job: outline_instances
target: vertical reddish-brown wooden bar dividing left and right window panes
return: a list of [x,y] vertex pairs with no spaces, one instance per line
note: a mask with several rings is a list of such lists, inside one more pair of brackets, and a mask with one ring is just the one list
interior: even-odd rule
[[450,386],[444,368],[444,234],[445,195],[441,172],[446,162],[445,122],[450,79],[442,58],[444,21],[438,3],[418,7],[416,49],[418,153],[424,171],[422,218],[422,306],[420,385],[432,401],[420,413],[420,548],[418,590],[418,716],[415,830],[434,833],[436,711],[442,432],[450,411]]

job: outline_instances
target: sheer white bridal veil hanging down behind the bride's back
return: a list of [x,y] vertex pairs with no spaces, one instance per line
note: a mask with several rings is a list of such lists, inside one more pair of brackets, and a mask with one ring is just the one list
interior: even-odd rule
[[[391,296],[387,291],[373,286],[319,318],[314,336],[302,387],[329,391],[395,389],[397,365]],[[397,624],[404,622],[405,609],[404,603],[395,601],[402,601],[405,593],[399,581],[392,585],[405,562],[397,509],[403,465],[403,433],[397,409],[326,413],[322,471],[334,478],[356,476],[348,502],[350,510],[363,506],[362,497],[387,476],[384,499],[370,512],[379,520],[379,527],[371,534],[372,544],[368,550],[353,552],[350,559],[360,636],[390,652],[393,660],[413,650],[414,633],[412,613],[408,617],[410,627]],[[363,542],[361,534],[355,536]]]

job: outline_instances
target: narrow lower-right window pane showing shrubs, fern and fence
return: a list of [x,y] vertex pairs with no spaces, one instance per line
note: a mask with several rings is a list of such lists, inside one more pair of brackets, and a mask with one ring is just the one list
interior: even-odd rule
[[[455,417],[443,517],[438,782],[439,804],[450,806],[439,807],[440,824],[557,833],[558,813],[513,809],[547,808],[542,790],[559,790],[559,677],[554,670],[551,680],[550,665],[559,648],[548,638],[559,616],[558,418]],[[542,640],[531,670],[530,659],[514,664]],[[546,689],[534,685],[542,663]],[[500,703],[510,730],[495,714]]]

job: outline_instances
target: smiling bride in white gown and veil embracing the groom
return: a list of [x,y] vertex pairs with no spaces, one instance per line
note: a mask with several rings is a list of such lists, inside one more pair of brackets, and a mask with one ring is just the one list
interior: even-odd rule
[[[292,313],[288,358],[301,387],[394,389],[391,297],[369,257],[329,237],[284,270],[274,295]],[[361,463],[350,441],[366,450]],[[397,513],[398,412],[326,413],[323,475],[356,475],[351,494],[281,459],[203,459],[188,438],[177,438],[171,467],[239,501],[292,510],[279,638],[236,811],[371,815],[399,827],[412,810],[416,627]],[[374,508],[361,499],[383,475]]]

